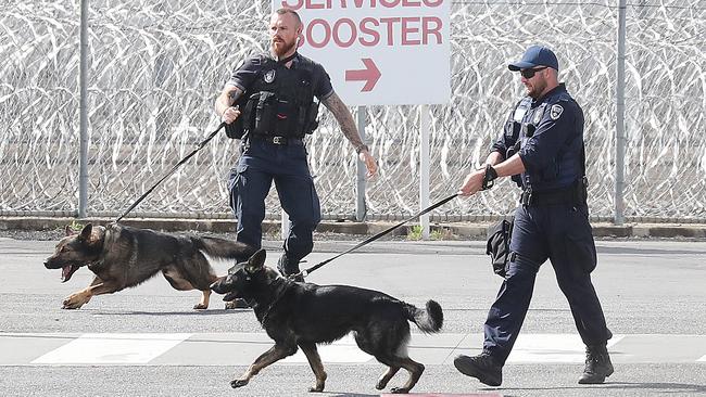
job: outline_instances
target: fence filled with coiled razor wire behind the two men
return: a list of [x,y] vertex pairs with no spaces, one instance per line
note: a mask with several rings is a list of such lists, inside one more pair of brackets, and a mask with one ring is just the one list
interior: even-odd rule
[[[452,98],[429,106],[432,202],[484,161],[521,97],[507,62],[545,43],[585,113],[592,218],[613,219],[617,9],[617,1],[452,3]],[[76,1],[2,2],[0,215],[77,215],[79,12]],[[268,1],[90,1],[89,216],[119,214],[216,128],[214,100],[244,56],[266,51],[269,12]],[[632,0],[627,24],[626,220],[703,222],[706,5]],[[368,181],[367,219],[405,218],[419,208],[418,107],[365,112],[380,166]],[[320,117],[307,150],[324,217],[354,219],[357,157],[332,116]],[[230,218],[226,178],[237,153],[237,141],[219,135],[133,216]],[[518,195],[503,180],[431,220],[500,217]],[[273,190],[268,217],[279,216],[277,203]]]

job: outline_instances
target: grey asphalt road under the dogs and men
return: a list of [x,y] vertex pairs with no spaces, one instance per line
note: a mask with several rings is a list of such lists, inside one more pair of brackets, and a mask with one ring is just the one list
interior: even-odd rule
[[[354,243],[319,243],[304,266],[327,259]],[[175,358],[162,360],[164,363],[160,359],[118,364],[37,363],[37,357],[50,350],[40,351],[42,345],[37,342],[41,341],[37,335],[52,343],[86,334],[112,333],[197,335],[192,337],[263,335],[252,311],[224,310],[215,295],[209,310],[194,311],[191,307],[200,293],[172,290],[162,277],[128,291],[93,297],[79,310],[62,310],[63,297],[85,287],[92,277],[87,269],[81,269],[62,284],[60,271],[42,266],[53,244],[0,238],[0,395],[307,395],[305,390],[313,382],[313,374],[307,364],[297,362],[275,364],[244,388],[231,389],[228,382],[234,372],[244,371],[240,362],[251,359],[252,349],[218,338],[202,349],[201,357],[193,356],[191,362]],[[279,243],[268,242],[265,246],[272,248],[267,262],[274,265]],[[428,358],[427,371],[415,393],[706,395],[706,242],[600,241],[597,247],[600,264],[593,273],[594,285],[608,326],[622,337],[610,347],[616,373],[600,386],[576,383],[583,368],[580,359],[553,362],[546,359],[551,355],[541,354],[508,362],[504,368],[504,383],[497,388],[486,387],[455,371],[450,363],[452,354],[474,354],[480,347],[475,341],[482,332],[484,317],[501,282],[491,271],[482,242],[376,242],[330,262],[307,281],[379,290],[417,306],[433,298],[444,309],[441,335],[472,335],[455,346],[456,349],[449,349],[449,357]],[[228,264],[216,262],[214,267],[224,273]],[[576,335],[568,305],[549,264],[540,271],[522,329],[529,345],[545,334],[554,335],[557,344]],[[417,334],[413,335],[413,345],[415,341],[419,341]],[[267,345],[255,347],[264,351]],[[199,355],[200,350],[191,349],[189,354]],[[419,355],[418,360],[425,362],[427,356]],[[704,359],[699,360],[701,357]],[[211,359],[213,363],[209,363]],[[324,361],[329,374],[325,395],[379,394],[374,386],[383,371],[381,364]],[[398,374],[391,385],[404,382],[403,376],[406,375]]]

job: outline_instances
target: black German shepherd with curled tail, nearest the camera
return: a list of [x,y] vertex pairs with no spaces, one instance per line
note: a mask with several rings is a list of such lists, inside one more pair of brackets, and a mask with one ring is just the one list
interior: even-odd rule
[[352,331],[363,351],[389,367],[378,380],[377,389],[383,389],[400,368],[409,372],[409,379],[391,392],[407,393],[414,387],[424,366],[407,356],[407,321],[416,323],[425,333],[439,332],[443,312],[438,303],[429,300],[423,310],[377,291],[294,282],[264,262],[265,251],[260,249],[211,285],[214,292],[227,294],[224,300],[244,298],[275,341],[275,346],[257,357],[230,386],[247,385],[263,368],[293,355],[299,346],[316,375],[316,385],[310,392],[322,392],[326,372],[316,344],[331,343]]

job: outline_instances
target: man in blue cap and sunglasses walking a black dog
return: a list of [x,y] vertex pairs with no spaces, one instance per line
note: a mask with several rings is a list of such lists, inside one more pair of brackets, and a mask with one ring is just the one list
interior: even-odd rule
[[606,348],[610,331],[591,283],[595,245],[587,206],[583,111],[559,84],[558,61],[552,50],[532,46],[519,62],[527,97],[513,108],[486,165],[470,172],[461,187],[471,195],[513,177],[522,189],[515,212],[506,276],[486,324],[479,356],[458,356],[454,366],[480,382],[499,386],[502,368],[527,313],[540,266],[550,259],[571,308],[587,361],[581,384],[603,383],[613,373]]

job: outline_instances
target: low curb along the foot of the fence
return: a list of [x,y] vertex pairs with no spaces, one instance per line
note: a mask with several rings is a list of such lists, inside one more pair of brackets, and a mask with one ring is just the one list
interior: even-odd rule
[[[108,225],[112,219],[106,218],[48,218],[48,217],[0,217],[0,230],[56,230],[63,229],[72,223],[97,223]],[[168,218],[127,218],[123,225],[154,229],[163,231],[197,231],[212,233],[232,233],[237,222],[229,219],[168,219]],[[374,235],[396,222],[356,222],[356,221],[322,221],[316,228],[320,233],[340,233]],[[413,233],[417,223],[409,223],[394,230],[392,235],[407,235]],[[487,223],[434,223],[430,231],[438,235],[439,240],[483,240],[486,232],[493,222]],[[634,223],[615,226],[610,223],[592,223],[593,235],[596,238],[659,238],[659,239],[706,239],[706,223]],[[265,220],[263,233],[277,232],[280,229],[279,221]]]

